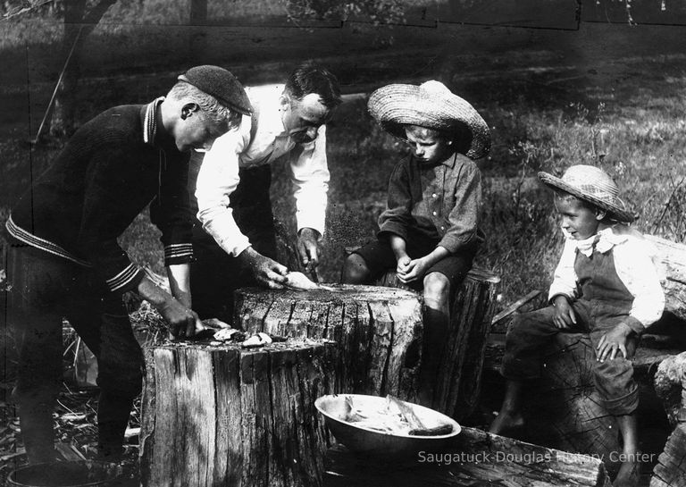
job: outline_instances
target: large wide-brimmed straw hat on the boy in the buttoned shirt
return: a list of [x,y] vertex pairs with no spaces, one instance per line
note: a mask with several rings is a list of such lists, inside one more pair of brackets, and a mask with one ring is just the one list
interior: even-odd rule
[[402,139],[405,139],[403,125],[420,125],[463,137],[466,127],[472,140],[464,155],[479,159],[489,153],[489,126],[472,105],[439,81],[379,88],[369,97],[368,107],[384,130]]

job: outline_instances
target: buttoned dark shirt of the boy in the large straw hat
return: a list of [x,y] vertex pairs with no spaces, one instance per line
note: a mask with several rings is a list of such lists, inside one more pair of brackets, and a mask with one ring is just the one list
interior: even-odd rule
[[388,208],[379,217],[379,235],[419,236],[456,253],[484,241],[479,228],[481,172],[465,155],[455,154],[434,167],[414,156],[397,164],[390,176]]

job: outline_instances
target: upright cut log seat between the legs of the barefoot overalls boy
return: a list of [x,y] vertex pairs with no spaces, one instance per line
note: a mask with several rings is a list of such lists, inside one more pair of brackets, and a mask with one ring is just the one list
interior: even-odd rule
[[[622,451],[614,416],[594,398],[595,354],[584,333],[558,333],[543,350],[539,381],[528,384],[523,413],[527,441],[605,458]],[[545,398],[545,400],[541,400]]]

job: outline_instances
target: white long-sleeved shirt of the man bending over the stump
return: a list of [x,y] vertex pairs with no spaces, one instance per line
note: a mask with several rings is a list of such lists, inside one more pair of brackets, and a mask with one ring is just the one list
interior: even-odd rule
[[284,85],[246,88],[258,113],[255,138],[250,141],[251,117],[243,115],[238,130],[231,130],[214,141],[205,153],[197,175],[197,218],[219,246],[232,256],[250,247],[238,229],[229,206],[230,195],[238,187],[238,168],[272,164],[281,155],[290,155],[290,169],[296,198],[298,231],[308,227],[324,233],[329,189],[326,160],[326,127],[322,125],[313,142],[298,150],[281,122],[280,96]]

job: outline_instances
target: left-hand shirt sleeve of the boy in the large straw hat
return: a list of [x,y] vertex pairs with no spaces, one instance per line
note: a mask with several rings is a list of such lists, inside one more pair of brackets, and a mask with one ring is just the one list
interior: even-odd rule
[[389,199],[386,210],[379,216],[379,236],[393,233],[407,239],[407,229],[412,223],[412,195],[410,193],[407,164],[397,164],[389,179]]

